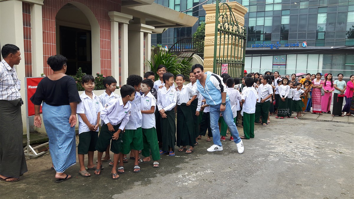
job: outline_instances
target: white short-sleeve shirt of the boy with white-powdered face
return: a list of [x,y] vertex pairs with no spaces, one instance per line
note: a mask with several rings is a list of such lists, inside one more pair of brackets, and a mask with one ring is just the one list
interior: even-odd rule
[[[148,93],[148,95],[145,96],[145,93],[141,96],[141,110],[151,110],[151,107],[154,106],[156,110],[156,99],[153,96],[151,92]],[[155,125],[155,113],[151,114],[145,114],[142,113],[143,115],[143,123],[142,123],[142,128],[143,129],[150,129],[152,127],[156,128]]]

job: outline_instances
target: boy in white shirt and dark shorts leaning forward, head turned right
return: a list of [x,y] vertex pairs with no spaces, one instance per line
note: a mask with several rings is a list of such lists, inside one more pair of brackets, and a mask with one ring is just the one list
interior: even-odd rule
[[101,158],[103,152],[107,149],[110,141],[111,151],[114,153],[114,162],[112,168],[112,178],[114,180],[119,178],[117,174],[117,164],[119,160],[119,152],[121,148],[121,140],[124,134],[121,131],[124,130],[125,125],[129,121],[131,104],[128,101],[133,101],[135,96],[135,89],[130,85],[123,85],[120,89],[120,95],[118,99],[114,99],[108,102],[101,110],[100,118],[104,123],[101,127],[101,132],[96,144],[97,154],[97,167],[95,175],[100,175],[102,170]]

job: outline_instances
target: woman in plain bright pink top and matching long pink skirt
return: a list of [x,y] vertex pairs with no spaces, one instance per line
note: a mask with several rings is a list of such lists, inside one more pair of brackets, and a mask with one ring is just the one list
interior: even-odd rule
[[331,114],[332,92],[334,91],[332,73],[325,74],[322,88],[325,90],[325,95],[321,97],[322,112]]

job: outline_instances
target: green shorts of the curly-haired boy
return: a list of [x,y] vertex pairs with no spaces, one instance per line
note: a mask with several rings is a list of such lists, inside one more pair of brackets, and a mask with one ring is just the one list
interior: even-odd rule
[[143,131],[141,127],[136,130],[126,129],[122,139],[122,147],[120,152],[123,154],[128,154],[131,149],[142,150],[143,148]]

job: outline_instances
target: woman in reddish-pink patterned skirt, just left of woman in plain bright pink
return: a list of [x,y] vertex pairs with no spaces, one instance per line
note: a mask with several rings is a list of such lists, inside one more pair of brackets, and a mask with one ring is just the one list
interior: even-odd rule
[[322,115],[321,107],[321,88],[323,86],[323,80],[321,80],[322,74],[316,73],[316,79],[312,80],[313,90],[312,90],[312,113],[319,113]]

